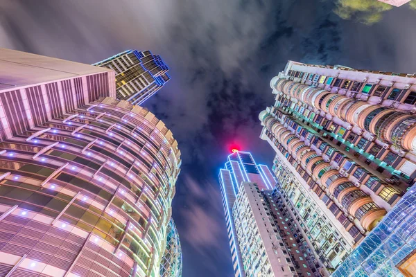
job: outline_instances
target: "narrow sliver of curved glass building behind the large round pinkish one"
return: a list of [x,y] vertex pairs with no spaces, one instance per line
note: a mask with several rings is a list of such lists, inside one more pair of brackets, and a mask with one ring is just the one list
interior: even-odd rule
[[160,262],[161,277],[182,277],[182,249],[179,233],[173,219],[169,221],[166,231],[166,249]]

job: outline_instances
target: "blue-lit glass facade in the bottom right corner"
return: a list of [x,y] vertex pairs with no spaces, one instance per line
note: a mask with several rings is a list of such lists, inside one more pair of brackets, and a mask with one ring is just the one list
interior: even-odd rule
[[416,276],[415,204],[412,188],[332,276]]

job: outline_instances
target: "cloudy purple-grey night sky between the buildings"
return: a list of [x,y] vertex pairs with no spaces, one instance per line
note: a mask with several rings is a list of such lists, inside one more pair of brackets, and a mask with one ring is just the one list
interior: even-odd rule
[[[413,6],[416,8],[416,0]],[[0,0],[0,46],[92,64],[162,56],[171,81],[145,106],[173,131],[183,276],[232,274],[218,170],[231,145],[272,163],[258,114],[287,60],[416,72],[416,10],[375,0]],[[381,6],[380,6],[381,5]]]

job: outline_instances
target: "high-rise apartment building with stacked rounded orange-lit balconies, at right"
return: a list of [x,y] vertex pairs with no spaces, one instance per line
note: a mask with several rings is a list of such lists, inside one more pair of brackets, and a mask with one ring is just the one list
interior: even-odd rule
[[[261,138],[276,152],[278,188],[328,267],[415,182],[415,77],[289,61],[270,82],[276,102],[259,115]],[[336,244],[318,242],[327,234]]]

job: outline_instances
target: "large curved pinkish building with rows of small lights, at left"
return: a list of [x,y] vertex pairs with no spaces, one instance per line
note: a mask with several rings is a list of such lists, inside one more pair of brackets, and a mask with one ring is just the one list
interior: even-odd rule
[[180,151],[114,71],[0,49],[0,272],[159,276]]

